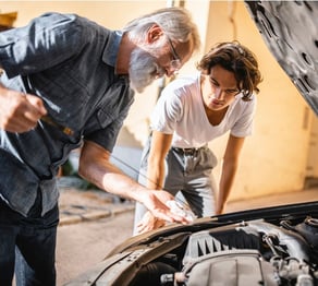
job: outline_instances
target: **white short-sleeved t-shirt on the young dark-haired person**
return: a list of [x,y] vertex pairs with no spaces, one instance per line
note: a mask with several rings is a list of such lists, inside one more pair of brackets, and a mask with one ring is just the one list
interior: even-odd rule
[[204,146],[229,130],[238,138],[252,134],[255,95],[249,102],[244,102],[242,94],[237,94],[223,120],[212,126],[200,94],[200,73],[171,82],[158,99],[150,118],[150,129],[173,134],[171,145],[181,148]]

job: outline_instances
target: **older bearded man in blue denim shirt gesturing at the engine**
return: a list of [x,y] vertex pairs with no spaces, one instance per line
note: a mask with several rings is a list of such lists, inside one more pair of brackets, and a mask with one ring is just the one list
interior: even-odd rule
[[[133,90],[172,75],[199,46],[196,25],[178,8],[109,31],[75,14],[47,13],[0,34],[0,285],[56,284],[59,222],[56,176],[81,146],[80,174],[185,223],[110,163]],[[133,90],[131,90],[131,87]]]

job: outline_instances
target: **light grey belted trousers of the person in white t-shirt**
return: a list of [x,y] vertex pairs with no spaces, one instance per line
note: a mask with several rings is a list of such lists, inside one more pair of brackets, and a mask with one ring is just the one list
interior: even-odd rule
[[[138,182],[143,186],[147,181],[147,165],[150,148],[148,140],[142,155]],[[204,146],[200,148],[171,147],[166,157],[166,177],[163,189],[187,203],[197,217],[215,215],[215,192],[217,184],[212,176],[212,169],[217,165],[213,153]],[[146,207],[136,203],[134,234],[136,225],[147,212]]]

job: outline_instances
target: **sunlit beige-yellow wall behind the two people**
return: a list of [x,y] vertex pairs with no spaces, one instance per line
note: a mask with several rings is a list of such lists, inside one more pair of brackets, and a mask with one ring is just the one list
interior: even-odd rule
[[[167,7],[168,3],[169,1],[150,0],[1,1],[0,11],[17,11],[15,26],[26,24],[40,13],[59,11],[78,13],[109,28],[118,29],[133,17]],[[192,12],[199,26],[204,43],[201,53],[217,41],[238,39],[257,55],[264,74],[261,92],[258,95],[255,132],[246,139],[241,168],[230,200],[302,189],[313,115],[309,112],[309,120],[305,124],[307,107],[266,47],[244,2],[192,0],[185,1],[185,8]],[[196,55],[183,68],[182,73],[195,71],[195,62],[199,56]],[[136,96],[125,122],[142,142],[147,136],[147,120],[160,84],[162,81],[157,81],[145,93]],[[216,169],[217,177],[220,174],[227,138],[228,135],[210,144],[220,162]]]

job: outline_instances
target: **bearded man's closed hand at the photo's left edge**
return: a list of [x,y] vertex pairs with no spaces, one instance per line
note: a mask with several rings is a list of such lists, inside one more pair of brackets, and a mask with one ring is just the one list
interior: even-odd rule
[[9,132],[27,132],[47,114],[42,100],[30,94],[0,86],[0,128]]

